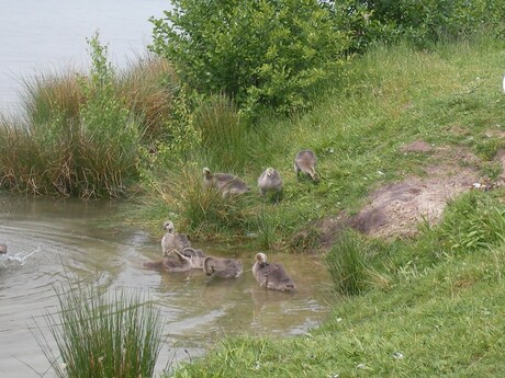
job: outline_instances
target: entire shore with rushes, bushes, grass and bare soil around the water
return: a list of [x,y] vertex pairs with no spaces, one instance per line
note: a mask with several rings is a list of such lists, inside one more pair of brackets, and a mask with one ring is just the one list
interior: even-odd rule
[[[172,4],[137,65],[94,36],[88,75],[27,83],[25,116],[0,121],[4,190],[126,197],[127,221],[192,241],[319,253],[324,324],[231,335],[167,376],[505,376],[505,1]],[[282,193],[261,194],[267,168]]]

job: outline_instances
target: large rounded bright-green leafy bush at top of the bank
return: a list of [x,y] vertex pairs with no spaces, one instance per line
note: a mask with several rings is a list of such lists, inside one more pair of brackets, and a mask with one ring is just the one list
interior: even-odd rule
[[307,106],[308,94],[344,64],[349,36],[329,8],[315,0],[175,0],[152,19],[150,49],[171,60],[200,93],[288,110]]

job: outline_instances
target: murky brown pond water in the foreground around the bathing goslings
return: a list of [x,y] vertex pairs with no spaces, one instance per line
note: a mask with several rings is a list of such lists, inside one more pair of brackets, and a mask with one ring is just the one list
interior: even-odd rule
[[155,300],[167,337],[157,371],[172,359],[204,353],[223,335],[303,334],[325,318],[328,279],[316,256],[268,253],[295,280],[294,293],[260,288],[250,272],[256,251],[229,247],[198,245],[207,254],[242,259],[245,271],[236,279],[146,270],[143,262],[161,257],[162,230],[102,227],[117,206],[0,195],[0,243],[9,247],[0,256],[0,377],[38,377],[48,368],[32,329],[37,323],[47,331],[44,314],[57,308],[54,285],[70,275]]

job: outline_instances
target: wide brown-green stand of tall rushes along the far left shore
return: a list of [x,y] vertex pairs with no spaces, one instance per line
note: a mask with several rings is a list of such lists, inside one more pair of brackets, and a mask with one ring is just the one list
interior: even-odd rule
[[24,118],[0,121],[0,186],[117,197],[138,180],[138,148],[170,114],[170,66],[147,58],[117,75],[98,35],[88,43],[89,76],[41,76],[26,83]]

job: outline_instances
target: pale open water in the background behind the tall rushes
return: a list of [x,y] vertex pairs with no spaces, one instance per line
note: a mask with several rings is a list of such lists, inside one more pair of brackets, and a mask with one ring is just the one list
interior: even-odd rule
[[150,16],[168,0],[1,0],[0,113],[16,113],[23,80],[89,67],[86,38],[99,31],[110,60],[124,66],[152,42]]

